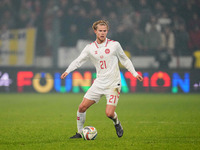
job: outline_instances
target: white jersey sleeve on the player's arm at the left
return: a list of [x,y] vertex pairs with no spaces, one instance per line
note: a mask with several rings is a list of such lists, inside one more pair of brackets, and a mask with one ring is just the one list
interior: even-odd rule
[[81,54],[74,61],[72,61],[72,63],[69,65],[65,72],[69,74],[70,72],[76,70],[77,68],[82,66],[88,60],[88,58],[88,46],[86,46],[81,52]]

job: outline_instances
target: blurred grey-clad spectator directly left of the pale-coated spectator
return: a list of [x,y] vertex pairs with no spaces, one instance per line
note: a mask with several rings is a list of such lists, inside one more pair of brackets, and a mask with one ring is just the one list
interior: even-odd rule
[[161,32],[159,32],[155,26],[152,26],[150,31],[146,34],[147,53],[155,56],[161,49],[161,42]]

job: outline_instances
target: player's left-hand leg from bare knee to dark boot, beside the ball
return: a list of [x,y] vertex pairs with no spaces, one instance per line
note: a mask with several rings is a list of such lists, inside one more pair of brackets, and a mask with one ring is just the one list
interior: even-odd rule
[[86,110],[95,103],[95,101],[93,100],[89,100],[87,98],[83,98],[83,101],[81,102],[81,104],[78,107],[78,111],[77,111],[77,129],[78,132],[70,137],[70,138],[81,138],[81,132],[85,123],[85,119],[86,119]]

